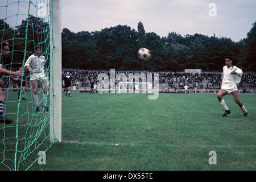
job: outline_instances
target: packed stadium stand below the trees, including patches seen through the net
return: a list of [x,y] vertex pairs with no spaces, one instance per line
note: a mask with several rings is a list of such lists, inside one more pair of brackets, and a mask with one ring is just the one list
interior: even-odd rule
[[[13,71],[16,71],[15,68]],[[93,78],[96,80],[100,73],[106,73],[110,77],[110,70],[88,70],[88,69],[68,69],[63,68],[62,77],[64,77],[69,71],[72,77],[72,86],[76,86],[76,92],[88,92],[89,88],[89,80]],[[189,93],[217,93],[221,88],[221,80],[222,80],[222,72],[201,72],[201,73],[188,73],[188,72],[172,72],[172,71],[164,71],[164,72],[152,72],[152,71],[117,71],[115,70],[115,75],[118,73],[124,73],[126,76],[129,73],[159,73],[159,92],[174,92],[174,85],[176,85],[178,89],[178,93],[184,93],[185,84],[188,85]],[[5,82],[8,84],[8,82]],[[4,85],[3,90],[5,88],[9,88],[9,92],[17,92],[16,85],[14,82],[10,82],[11,87],[9,85]],[[115,82],[117,84],[117,82]],[[238,85],[239,93],[256,93],[256,73],[254,72],[244,72],[241,82]],[[73,88],[71,89],[73,91]],[[28,81],[28,87],[26,88],[26,92],[30,92],[30,81]]]

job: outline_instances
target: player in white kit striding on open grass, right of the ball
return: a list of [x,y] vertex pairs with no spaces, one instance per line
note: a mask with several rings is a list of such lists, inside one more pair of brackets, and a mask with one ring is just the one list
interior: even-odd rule
[[230,110],[228,106],[226,105],[224,99],[222,98],[226,94],[232,94],[234,97],[234,101],[240,106],[241,110],[243,111],[243,115],[245,117],[248,116],[247,110],[245,109],[245,106],[242,104],[242,102],[239,99],[238,91],[237,91],[237,84],[241,81],[242,77],[242,69],[237,68],[232,64],[232,58],[226,57],[225,58],[225,67],[223,67],[223,73],[222,73],[222,86],[220,91],[217,94],[218,101],[220,102],[220,105],[225,110],[225,113],[222,116],[226,116],[230,114]]

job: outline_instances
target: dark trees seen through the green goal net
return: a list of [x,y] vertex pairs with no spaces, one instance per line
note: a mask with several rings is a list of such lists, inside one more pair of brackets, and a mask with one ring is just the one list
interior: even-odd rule
[[[28,16],[22,20],[22,24],[11,28],[5,20],[0,19],[0,38],[2,42],[9,42],[12,55],[5,64],[12,64],[13,67],[21,67],[22,63],[34,53],[34,47],[38,44],[44,47],[44,55],[49,51],[49,24],[43,19],[35,16]],[[24,51],[26,50],[26,51]],[[47,59],[49,57],[46,57]]]

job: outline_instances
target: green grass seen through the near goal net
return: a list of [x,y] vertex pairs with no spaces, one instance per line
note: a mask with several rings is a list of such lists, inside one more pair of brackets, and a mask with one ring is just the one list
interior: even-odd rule
[[14,122],[0,124],[0,171],[25,170],[39,158],[39,151],[46,151],[51,145],[49,113],[42,109],[42,103],[39,112],[35,112],[30,93],[27,101],[18,101],[16,93],[6,93],[6,97],[5,117]]

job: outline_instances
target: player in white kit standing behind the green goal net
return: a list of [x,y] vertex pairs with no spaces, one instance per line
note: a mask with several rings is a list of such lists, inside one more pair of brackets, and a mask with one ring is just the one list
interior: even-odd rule
[[46,58],[42,55],[42,46],[35,47],[35,54],[28,57],[24,67],[30,72],[31,86],[34,92],[34,101],[36,103],[36,111],[39,111],[38,86],[40,84],[43,89],[43,108],[48,111],[47,102],[47,78],[44,73],[44,64]]

